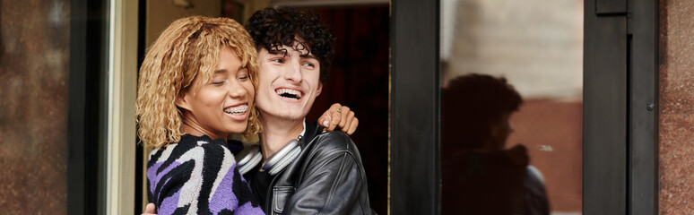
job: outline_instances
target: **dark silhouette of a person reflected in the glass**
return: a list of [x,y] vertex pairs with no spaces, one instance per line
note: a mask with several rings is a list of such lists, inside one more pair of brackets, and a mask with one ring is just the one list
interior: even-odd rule
[[444,213],[549,214],[542,176],[525,146],[508,150],[508,119],[523,99],[503,78],[468,74],[442,100]]

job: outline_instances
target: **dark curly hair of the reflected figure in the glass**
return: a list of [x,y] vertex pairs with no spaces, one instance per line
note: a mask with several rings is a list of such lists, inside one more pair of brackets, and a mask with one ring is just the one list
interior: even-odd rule
[[523,98],[503,77],[466,74],[442,91],[442,141],[478,149],[490,138],[490,125],[518,110]]

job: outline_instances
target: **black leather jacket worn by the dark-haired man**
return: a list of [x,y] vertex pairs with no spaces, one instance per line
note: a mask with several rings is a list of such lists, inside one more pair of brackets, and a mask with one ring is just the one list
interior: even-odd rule
[[[267,214],[372,214],[361,156],[347,134],[307,124],[301,153],[275,176]],[[257,195],[256,195],[257,196]]]

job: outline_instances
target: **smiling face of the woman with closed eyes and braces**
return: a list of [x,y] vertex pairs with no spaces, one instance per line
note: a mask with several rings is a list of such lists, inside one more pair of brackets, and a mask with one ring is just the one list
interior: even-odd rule
[[205,134],[213,139],[246,131],[247,118],[253,107],[255,90],[241,65],[241,59],[229,47],[220,51],[220,64],[209,82],[195,78],[192,86],[176,101],[182,109],[184,123],[191,134]]

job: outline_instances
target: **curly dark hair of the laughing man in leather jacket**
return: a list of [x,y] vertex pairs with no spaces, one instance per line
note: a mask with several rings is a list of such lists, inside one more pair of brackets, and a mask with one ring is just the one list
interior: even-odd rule
[[292,47],[297,51],[308,49],[308,53],[320,62],[320,82],[327,81],[328,68],[335,54],[335,37],[319,23],[317,15],[294,8],[268,7],[253,13],[246,30],[256,42],[257,50],[265,48],[270,53],[284,52],[286,55],[287,50],[280,47]]

